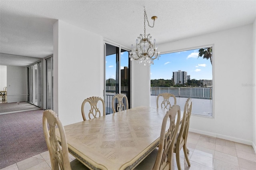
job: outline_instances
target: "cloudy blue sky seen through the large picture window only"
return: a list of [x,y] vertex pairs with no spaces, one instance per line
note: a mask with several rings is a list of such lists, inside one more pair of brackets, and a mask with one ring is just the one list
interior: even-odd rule
[[212,79],[210,59],[198,58],[198,49],[161,54],[150,66],[150,79],[172,79],[173,71],[186,71],[190,79]]

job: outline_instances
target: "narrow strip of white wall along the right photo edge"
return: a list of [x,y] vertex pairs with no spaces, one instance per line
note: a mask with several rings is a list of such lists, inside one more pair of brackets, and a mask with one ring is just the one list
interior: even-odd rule
[[252,146],[256,151],[256,20],[253,24],[253,36],[252,36],[252,47],[253,48],[253,60],[252,60]]

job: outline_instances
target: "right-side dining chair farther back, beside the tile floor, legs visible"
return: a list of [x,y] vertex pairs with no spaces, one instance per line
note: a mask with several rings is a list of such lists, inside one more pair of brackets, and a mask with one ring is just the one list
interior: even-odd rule
[[185,106],[184,106],[184,113],[182,117],[182,123],[180,126],[180,132],[178,132],[178,137],[174,144],[174,153],[176,153],[176,162],[178,166],[178,170],[181,170],[180,166],[180,150],[183,148],[183,152],[188,163],[190,166],[190,162],[188,159],[189,150],[187,148],[187,139],[188,139],[188,129],[189,129],[189,122],[190,122],[190,115],[192,112],[192,99],[188,98]]

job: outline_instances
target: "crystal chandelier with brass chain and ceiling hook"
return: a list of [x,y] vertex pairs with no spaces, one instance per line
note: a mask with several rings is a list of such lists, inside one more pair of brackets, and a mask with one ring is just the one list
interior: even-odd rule
[[148,22],[148,26],[153,28],[155,25],[155,20],[157,19],[157,16],[151,17],[153,22],[153,26],[150,26],[148,22],[148,16],[146,14],[146,8],[144,7],[144,35],[140,34],[136,40],[136,46],[133,47],[132,45],[132,51],[130,52],[130,59],[131,61],[134,59],[140,64],[144,64],[147,66],[150,66],[151,64],[154,64],[154,59],[159,59],[160,52],[157,50],[157,44],[156,39],[154,39],[154,42],[151,42],[151,36],[150,34],[146,35],[146,20]]

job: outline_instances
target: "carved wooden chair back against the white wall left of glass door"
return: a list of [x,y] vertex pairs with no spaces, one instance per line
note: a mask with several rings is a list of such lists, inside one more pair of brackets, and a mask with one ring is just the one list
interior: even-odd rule
[[89,97],[89,98],[87,98],[83,101],[82,107],[81,107],[82,117],[83,117],[84,121],[86,121],[86,117],[84,115],[84,105],[87,102],[90,104],[90,109],[89,109],[89,113],[88,113],[89,119],[94,119],[95,117],[100,117],[101,116],[101,112],[100,112],[100,109],[98,107],[98,105],[100,105],[100,104],[98,104],[98,102],[102,103],[102,105],[101,105],[101,107],[103,107],[102,108],[103,109],[102,115],[103,116],[106,115],[106,107],[105,107],[104,100],[101,97],[95,97],[95,96]]

